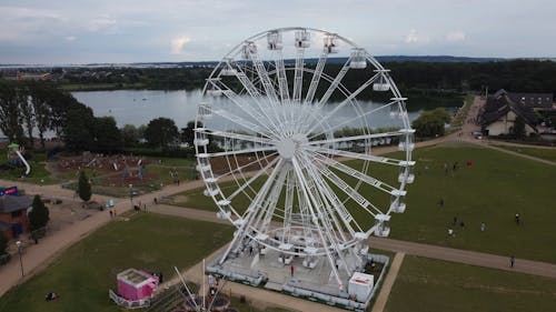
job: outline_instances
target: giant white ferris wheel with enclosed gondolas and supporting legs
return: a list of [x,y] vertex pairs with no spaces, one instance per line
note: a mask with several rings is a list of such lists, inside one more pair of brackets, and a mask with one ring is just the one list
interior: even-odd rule
[[[341,288],[415,179],[414,130],[389,71],[336,33],[282,28],[231,49],[202,92],[197,169],[236,228],[220,263],[252,249],[307,268],[325,259]],[[383,145],[395,157],[377,154]]]

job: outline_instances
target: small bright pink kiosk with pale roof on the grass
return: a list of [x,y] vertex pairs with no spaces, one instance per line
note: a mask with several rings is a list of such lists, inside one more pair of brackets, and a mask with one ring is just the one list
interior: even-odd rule
[[150,298],[158,286],[158,278],[145,271],[128,269],[118,274],[118,294],[128,301]]

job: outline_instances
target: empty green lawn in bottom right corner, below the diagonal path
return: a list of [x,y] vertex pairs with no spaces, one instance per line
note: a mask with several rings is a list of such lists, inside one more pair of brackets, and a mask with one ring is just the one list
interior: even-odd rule
[[555,311],[556,280],[406,255],[386,312]]

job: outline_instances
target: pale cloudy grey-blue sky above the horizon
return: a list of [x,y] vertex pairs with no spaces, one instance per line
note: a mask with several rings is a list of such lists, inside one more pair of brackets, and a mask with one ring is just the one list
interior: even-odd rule
[[0,0],[0,63],[219,60],[275,28],[374,56],[556,57],[554,0]]

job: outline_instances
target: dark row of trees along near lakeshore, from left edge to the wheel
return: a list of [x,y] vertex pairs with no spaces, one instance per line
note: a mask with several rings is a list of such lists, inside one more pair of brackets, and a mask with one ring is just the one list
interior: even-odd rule
[[12,142],[33,147],[38,133],[53,131],[70,151],[117,152],[142,147],[165,149],[193,141],[195,122],[178,129],[168,118],[156,118],[146,125],[126,124],[118,129],[112,117],[95,117],[91,108],[70,93],[34,81],[0,80],[0,130]]

